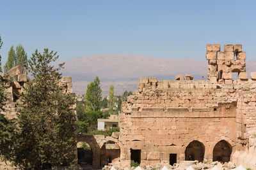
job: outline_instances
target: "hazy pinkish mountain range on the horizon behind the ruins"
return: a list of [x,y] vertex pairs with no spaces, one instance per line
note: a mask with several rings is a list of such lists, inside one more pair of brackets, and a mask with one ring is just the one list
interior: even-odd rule
[[[192,74],[194,80],[207,79],[207,60],[164,59],[142,55],[90,55],[65,62],[63,76],[72,76],[73,90],[85,94],[86,87],[95,76],[101,81],[102,94],[108,95],[111,84],[115,95],[124,90],[136,90],[140,77],[174,80],[177,74]],[[256,60],[246,61],[246,71],[256,71]]]

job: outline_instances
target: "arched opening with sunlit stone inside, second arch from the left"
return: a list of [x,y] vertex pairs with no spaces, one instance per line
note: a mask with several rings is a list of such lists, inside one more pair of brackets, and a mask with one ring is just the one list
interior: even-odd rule
[[120,147],[114,141],[107,141],[100,149],[100,166],[117,165],[120,160]]

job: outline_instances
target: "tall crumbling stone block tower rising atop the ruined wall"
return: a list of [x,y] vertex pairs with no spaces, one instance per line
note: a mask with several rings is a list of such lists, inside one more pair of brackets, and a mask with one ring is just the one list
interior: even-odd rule
[[221,52],[220,44],[208,44],[205,57],[208,60],[208,80],[232,84],[232,73],[238,73],[239,80],[248,79],[246,52],[242,51],[242,45],[224,45],[224,52]]

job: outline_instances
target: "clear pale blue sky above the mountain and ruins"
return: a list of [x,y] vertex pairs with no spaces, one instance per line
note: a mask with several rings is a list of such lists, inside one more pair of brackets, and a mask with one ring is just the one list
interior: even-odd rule
[[255,1],[0,1],[2,64],[21,43],[59,61],[105,53],[205,60],[207,43],[242,43],[256,59]]

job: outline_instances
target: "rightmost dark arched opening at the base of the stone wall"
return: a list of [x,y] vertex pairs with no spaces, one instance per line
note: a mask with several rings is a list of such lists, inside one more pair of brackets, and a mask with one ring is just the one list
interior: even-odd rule
[[213,148],[212,160],[219,162],[229,162],[232,153],[232,146],[225,140],[221,140]]

